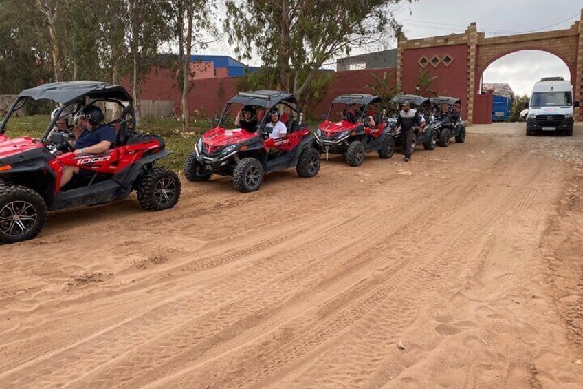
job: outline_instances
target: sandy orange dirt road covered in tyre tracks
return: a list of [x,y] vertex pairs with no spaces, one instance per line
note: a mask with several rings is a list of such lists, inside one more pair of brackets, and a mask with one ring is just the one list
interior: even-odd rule
[[0,246],[1,388],[582,388],[583,126],[184,182]]

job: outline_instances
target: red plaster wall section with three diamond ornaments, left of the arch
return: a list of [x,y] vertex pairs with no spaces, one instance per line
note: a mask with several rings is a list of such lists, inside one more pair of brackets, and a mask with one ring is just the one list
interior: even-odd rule
[[[419,59],[425,55],[429,61],[437,54],[441,59],[450,54],[454,61],[449,66],[439,63],[437,67],[428,64],[421,68]],[[423,71],[437,78],[430,85],[430,89],[441,96],[461,98],[463,110],[467,116],[467,45],[439,46],[434,48],[407,49],[403,52],[403,85],[407,93],[415,93],[415,85],[419,79],[419,72]]]

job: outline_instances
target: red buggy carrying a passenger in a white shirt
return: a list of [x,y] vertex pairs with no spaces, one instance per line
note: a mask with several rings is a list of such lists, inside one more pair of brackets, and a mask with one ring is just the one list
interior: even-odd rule
[[[239,105],[257,115],[256,129],[225,128],[231,109]],[[279,117],[287,133],[271,138],[273,129],[267,124],[278,106],[289,111]],[[197,140],[195,150],[186,158],[184,176],[189,181],[207,181],[212,174],[232,176],[235,189],[242,193],[259,189],[265,174],[290,167],[296,167],[300,177],[314,177],[320,170],[320,153],[302,118],[292,94],[270,90],[239,92],[225,105],[216,127]]]

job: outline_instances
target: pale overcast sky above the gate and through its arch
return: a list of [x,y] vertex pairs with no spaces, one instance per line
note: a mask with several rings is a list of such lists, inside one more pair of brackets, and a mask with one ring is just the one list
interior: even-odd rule
[[[502,36],[570,28],[579,20],[582,8],[580,0],[419,0],[401,6],[395,15],[409,39],[463,32],[472,21],[486,36]],[[389,41],[384,46],[394,48],[396,42]],[[353,54],[382,49],[354,50]],[[203,52],[234,56],[226,41],[214,43]],[[261,61],[254,59],[250,65],[261,65]],[[516,94],[530,94],[533,83],[543,76],[570,78],[568,68],[558,57],[525,51],[492,63],[483,81],[509,83]]]

